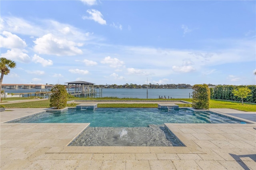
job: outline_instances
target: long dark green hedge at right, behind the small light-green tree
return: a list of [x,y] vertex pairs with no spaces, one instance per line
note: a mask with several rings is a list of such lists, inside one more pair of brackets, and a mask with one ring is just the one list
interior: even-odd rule
[[256,85],[217,85],[210,88],[211,99],[224,99],[232,101],[240,101],[241,98],[234,96],[232,91],[238,87],[248,87],[251,90],[251,95],[244,99],[244,102],[256,103]]

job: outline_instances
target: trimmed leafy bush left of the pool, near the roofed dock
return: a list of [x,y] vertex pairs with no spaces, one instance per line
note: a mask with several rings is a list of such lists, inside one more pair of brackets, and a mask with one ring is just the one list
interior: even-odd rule
[[67,90],[64,85],[54,85],[51,89],[50,107],[62,109],[67,105]]

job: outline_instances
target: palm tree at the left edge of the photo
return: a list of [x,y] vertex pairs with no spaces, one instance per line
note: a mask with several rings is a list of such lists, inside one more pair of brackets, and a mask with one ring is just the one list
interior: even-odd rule
[[8,73],[10,73],[10,69],[15,67],[16,67],[16,63],[14,61],[4,57],[0,58],[0,70],[1,70],[0,90],[2,89],[2,82],[3,82],[4,75],[8,75]]

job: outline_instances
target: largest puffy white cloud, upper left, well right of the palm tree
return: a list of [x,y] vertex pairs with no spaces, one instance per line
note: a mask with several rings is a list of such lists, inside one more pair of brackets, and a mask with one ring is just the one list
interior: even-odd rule
[[48,55],[77,55],[82,54],[82,50],[79,49],[78,43],[68,41],[63,38],[57,38],[52,34],[46,34],[41,38],[37,38],[34,43],[34,51],[40,54]]

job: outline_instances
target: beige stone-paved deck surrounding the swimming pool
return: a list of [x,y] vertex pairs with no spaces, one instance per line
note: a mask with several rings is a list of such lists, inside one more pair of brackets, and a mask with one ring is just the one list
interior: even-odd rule
[[0,113],[1,170],[256,170],[255,112],[210,109],[252,124],[166,124],[184,147],[124,147],[67,146],[89,123],[4,123],[46,108],[6,110]]

